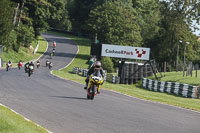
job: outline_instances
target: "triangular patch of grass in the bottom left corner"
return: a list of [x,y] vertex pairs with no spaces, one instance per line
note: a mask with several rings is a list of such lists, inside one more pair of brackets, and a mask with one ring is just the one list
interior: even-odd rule
[[10,109],[0,106],[0,132],[1,133],[47,133],[33,122],[16,115]]

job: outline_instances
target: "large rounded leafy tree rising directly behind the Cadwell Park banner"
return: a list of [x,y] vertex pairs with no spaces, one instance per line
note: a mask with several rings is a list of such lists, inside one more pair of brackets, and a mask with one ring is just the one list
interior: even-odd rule
[[105,2],[89,14],[89,31],[102,43],[141,46],[135,10],[120,1]]

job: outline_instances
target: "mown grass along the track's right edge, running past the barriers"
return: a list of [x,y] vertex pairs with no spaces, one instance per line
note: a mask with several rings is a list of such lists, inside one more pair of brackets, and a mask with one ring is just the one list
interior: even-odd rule
[[[85,84],[85,77],[82,77],[81,75],[75,75],[72,74],[73,67],[81,67],[81,68],[87,68],[88,64],[87,61],[89,59],[89,51],[90,51],[90,44],[91,41],[85,38],[80,38],[76,36],[61,34],[61,33],[55,33],[51,32],[57,35],[65,36],[73,41],[75,41],[79,45],[79,53],[67,68],[64,68],[62,70],[55,70],[53,71],[53,74],[58,75],[64,79],[73,80],[82,84]],[[184,77],[181,80],[178,76],[176,78],[172,78],[175,75],[181,75],[181,72],[179,73],[165,73],[165,77],[161,80],[174,80],[174,81],[181,81],[183,83],[193,83],[193,84],[199,84],[200,80],[188,80],[191,77]],[[172,77],[171,77],[172,76]],[[193,77],[194,78],[194,77]],[[200,111],[200,100],[199,99],[190,99],[190,98],[183,98],[179,96],[175,96],[172,94],[165,94],[165,93],[159,93],[159,92],[153,92],[146,89],[141,88],[141,83],[138,83],[136,85],[122,85],[122,84],[111,84],[108,82],[105,82],[103,85],[103,89],[105,90],[112,90],[116,92],[120,92],[123,94],[127,94],[130,96],[138,97],[141,99],[151,100],[155,102],[175,105],[179,107],[184,107],[188,109],[193,109]]]

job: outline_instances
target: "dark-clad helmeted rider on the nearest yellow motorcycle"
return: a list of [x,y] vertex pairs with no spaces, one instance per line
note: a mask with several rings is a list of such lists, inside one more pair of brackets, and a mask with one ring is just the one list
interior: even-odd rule
[[[104,72],[103,72],[103,68],[101,67],[101,62],[96,61],[94,63],[94,65],[87,72],[87,78],[85,79],[86,84],[85,84],[85,87],[84,87],[85,90],[87,89],[90,75],[93,74],[95,71],[100,71],[100,74],[102,75],[102,77],[104,79]],[[97,93],[100,93],[100,92],[97,90]]]

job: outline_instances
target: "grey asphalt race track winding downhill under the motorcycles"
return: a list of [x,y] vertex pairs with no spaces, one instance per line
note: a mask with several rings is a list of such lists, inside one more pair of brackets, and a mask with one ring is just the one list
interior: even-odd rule
[[[53,69],[66,66],[78,50],[64,37],[43,35],[57,42]],[[0,103],[55,133],[199,133],[200,113],[102,90],[86,99],[83,85],[50,74],[41,67],[31,77],[24,70],[0,70]],[[124,88],[126,89],[126,88]]]

